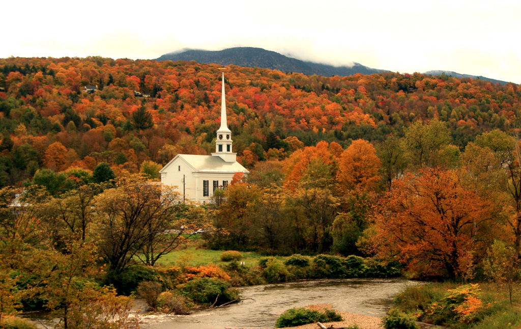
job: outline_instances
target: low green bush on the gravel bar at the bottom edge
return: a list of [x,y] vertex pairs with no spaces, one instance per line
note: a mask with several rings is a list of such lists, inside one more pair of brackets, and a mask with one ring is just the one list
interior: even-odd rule
[[342,320],[342,316],[340,316],[337,312],[331,309],[325,309],[324,311],[320,312],[301,307],[292,308],[282,313],[277,319],[275,327],[294,327],[308,323],[333,322]]

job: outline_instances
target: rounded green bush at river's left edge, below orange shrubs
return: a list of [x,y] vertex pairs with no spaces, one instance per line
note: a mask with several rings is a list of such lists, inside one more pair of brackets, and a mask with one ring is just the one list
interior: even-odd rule
[[212,277],[198,277],[181,286],[181,294],[197,304],[221,305],[239,298],[239,291],[230,288],[224,280]]

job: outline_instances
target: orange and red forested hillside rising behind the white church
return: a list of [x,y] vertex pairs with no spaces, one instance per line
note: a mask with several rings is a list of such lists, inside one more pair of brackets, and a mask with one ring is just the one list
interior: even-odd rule
[[[20,185],[39,168],[94,170],[106,162],[120,176],[178,153],[209,154],[220,72],[215,64],[99,56],[0,59],[0,186]],[[357,139],[377,144],[431,120],[464,148],[482,132],[506,129],[520,108],[516,84],[446,75],[309,77],[230,66],[225,83],[234,150],[248,167],[321,140],[342,149]],[[413,163],[446,155],[425,146]],[[295,165],[293,181],[304,164]]]

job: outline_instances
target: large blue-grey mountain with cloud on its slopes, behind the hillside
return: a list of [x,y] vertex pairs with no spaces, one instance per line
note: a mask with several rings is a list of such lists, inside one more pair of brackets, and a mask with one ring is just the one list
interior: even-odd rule
[[350,76],[356,73],[373,74],[382,71],[362,64],[353,66],[332,66],[287,57],[263,48],[236,47],[220,51],[187,50],[180,53],[163,55],[156,60],[195,60],[197,63],[214,63],[220,65],[237,65],[243,67],[261,67],[283,72],[299,72],[305,75],[322,77]]

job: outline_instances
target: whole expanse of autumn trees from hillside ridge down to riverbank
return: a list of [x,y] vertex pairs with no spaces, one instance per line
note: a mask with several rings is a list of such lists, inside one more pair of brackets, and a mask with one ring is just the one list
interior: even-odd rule
[[[215,150],[222,71],[250,175],[212,203],[178,203],[145,182],[179,153]],[[45,306],[67,327],[87,299],[125,312],[100,284],[160,263],[196,232],[213,249],[506,280],[502,264],[521,259],[519,117],[518,85],[446,75],[0,59],[0,290],[16,297],[0,299],[0,315]]]

